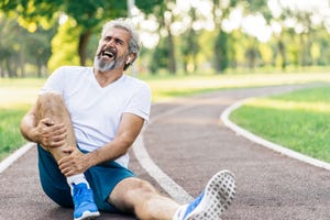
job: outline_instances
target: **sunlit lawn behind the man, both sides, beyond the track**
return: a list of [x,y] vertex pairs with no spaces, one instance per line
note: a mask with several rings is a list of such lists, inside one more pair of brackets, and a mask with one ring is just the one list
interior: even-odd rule
[[[283,84],[330,82],[330,74],[253,74],[205,76],[139,76],[152,88],[153,102],[219,89]],[[25,141],[20,135],[21,118],[36,99],[45,79],[0,78],[0,160]],[[284,100],[283,100],[284,101]],[[220,113],[220,112],[219,112]]]

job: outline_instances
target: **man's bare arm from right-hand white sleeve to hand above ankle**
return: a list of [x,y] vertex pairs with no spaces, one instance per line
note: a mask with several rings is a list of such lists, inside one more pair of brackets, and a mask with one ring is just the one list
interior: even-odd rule
[[79,151],[58,162],[59,169],[66,176],[85,172],[91,166],[107,161],[114,161],[124,155],[140,134],[144,119],[133,113],[123,113],[116,138],[108,144],[88,154]]

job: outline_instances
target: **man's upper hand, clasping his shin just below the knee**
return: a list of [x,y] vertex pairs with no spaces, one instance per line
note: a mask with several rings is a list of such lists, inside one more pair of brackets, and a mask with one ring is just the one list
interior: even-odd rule
[[50,118],[42,119],[33,131],[37,143],[44,147],[58,147],[65,144],[66,128],[54,123]]

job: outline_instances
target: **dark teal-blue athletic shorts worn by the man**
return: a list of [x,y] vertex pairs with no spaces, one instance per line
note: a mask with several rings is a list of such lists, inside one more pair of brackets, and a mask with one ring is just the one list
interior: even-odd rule
[[[58,169],[52,154],[37,145],[38,170],[41,185],[45,194],[56,204],[63,207],[74,207],[70,187],[66,177]],[[102,211],[120,212],[108,202],[108,198],[114,186],[128,177],[135,175],[116,162],[107,162],[90,167],[85,173],[86,179],[94,190],[95,201]]]

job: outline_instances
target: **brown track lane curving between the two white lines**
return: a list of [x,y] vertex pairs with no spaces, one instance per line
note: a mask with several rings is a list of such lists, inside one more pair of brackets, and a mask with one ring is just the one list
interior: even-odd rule
[[216,172],[232,170],[238,194],[222,219],[330,219],[329,170],[265,148],[219,121],[221,112],[238,100],[300,87],[305,86],[227,90],[157,105],[155,114],[163,109],[182,110],[150,125],[144,133],[147,152],[194,197]]

